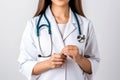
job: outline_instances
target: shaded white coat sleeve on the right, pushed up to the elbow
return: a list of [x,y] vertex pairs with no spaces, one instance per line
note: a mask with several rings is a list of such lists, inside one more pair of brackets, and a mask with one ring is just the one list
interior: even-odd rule
[[91,67],[92,67],[92,74],[85,73],[85,78],[86,78],[85,80],[93,80],[93,76],[95,75],[100,62],[100,56],[99,56],[99,50],[97,46],[95,32],[91,21],[89,21],[88,24],[85,55],[89,56],[88,60],[91,62]]

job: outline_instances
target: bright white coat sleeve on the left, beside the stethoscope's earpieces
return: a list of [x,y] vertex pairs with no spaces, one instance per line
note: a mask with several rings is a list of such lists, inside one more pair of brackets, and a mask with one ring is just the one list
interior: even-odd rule
[[31,21],[27,22],[27,26],[22,36],[21,45],[20,45],[20,56],[18,58],[20,72],[23,73],[28,80],[32,79],[32,70],[36,60],[36,45],[34,41],[34,24]]

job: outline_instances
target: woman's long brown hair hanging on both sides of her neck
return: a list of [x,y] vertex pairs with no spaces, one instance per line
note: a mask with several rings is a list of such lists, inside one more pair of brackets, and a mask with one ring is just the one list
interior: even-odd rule
[[[51,5],[51,3],[51,0],[39,0],[38,8],[34,16],[38,16],[39,14],[44,13],[48,5]],[[76,12],[77,14],[85,17],[81,0],[70,0],[69,6],[73,12]]]

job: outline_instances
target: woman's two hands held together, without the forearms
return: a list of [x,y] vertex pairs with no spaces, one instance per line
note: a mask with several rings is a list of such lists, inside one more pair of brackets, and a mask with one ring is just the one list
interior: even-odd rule
[[68,45],[62,49],[60,54],[53,54],[49,59],[51,68],[61,67],[66,61],[66,56],[70,56],[74,61],[77,62],[80,58],[78,47],[74,45]]

